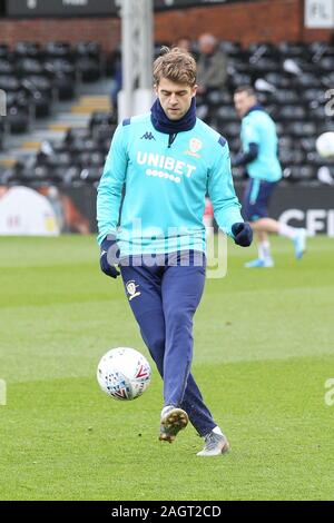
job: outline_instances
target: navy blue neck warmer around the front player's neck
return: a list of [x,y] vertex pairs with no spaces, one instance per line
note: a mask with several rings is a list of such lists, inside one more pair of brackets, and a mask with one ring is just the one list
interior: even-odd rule
[[157,98],[151,109],[150,119],[155,129],[166,135],[175,135],[177,132],[193,129],[196,124],[196,100],[191,99],[188,111],[179,120],[170,120],[164,111],[159,99]]

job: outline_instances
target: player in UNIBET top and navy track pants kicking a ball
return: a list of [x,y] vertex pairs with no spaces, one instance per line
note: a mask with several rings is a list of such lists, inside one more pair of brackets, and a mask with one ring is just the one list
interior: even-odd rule
[[193,316],[205,283],[206,193],[236,244],[247,247],[252,228],[240,216],[226,140],[196,118],[194,58],[178,48],[163,52],[154,63],[151,111],[118,126],[106,160],[97,199],[100,266],[114,278],[119,266],[164,378],[159,440],[171,443],[190,420],[205,440],[198,455],[210,456],[228,442],[190,373]]

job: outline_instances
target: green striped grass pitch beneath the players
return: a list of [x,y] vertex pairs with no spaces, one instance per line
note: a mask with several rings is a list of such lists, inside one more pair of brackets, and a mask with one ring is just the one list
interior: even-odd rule
[[333,239],[274,269],[244,269],[229,243],[195,317],[194,374],[233,451],[200,458],[191,426],[158,442],[161,381],[121,403],[96,382],[100,356],[145,353],[121,280],[92,237],[0,239],[0,500],[333,500]]

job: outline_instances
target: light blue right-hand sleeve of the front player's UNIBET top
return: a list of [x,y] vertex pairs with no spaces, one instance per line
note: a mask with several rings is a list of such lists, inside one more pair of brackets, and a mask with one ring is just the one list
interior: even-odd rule
[[208,177],[208,195],[219,228],[233,237],[233,224],[244,221],[244,219],[233,185],[228,145],[220,138],[218,147],[220,149]]

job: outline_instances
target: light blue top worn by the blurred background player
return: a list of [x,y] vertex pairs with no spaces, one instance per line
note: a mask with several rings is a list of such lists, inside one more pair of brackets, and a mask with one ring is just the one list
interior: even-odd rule
[[250,178],[266,181],[278,181],[282,178],[276,126],[269,115],[258,106],[243,118],[242,144],[245,152],[248,152],[249,144],[258,145],[257,158],[247,164]]

